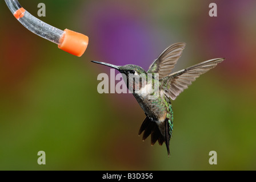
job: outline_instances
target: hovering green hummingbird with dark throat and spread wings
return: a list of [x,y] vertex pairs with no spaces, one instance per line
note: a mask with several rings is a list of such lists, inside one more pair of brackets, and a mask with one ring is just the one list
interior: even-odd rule
[[[117,69],[122,73],[127,88],[133,91],[133,96],[146,115],[138,134],[141,135],[144,131],[143,141],[151,134],[151,146],[157,140],[160,146],[165,143],[168,156],[170,156],[169,143],[173,135],[173,106],[171,101],[175,100],[184,89],[187,89],[197,77],[225,60],[225,58],[211,59],[171,73],[185,46],[186,43],[175,43],[167,47],[153,61],[147,72],[138,65],[117,66],[92,61],[93,63]],[[149,75],[151,75],[151,79],[147,80]],[[134,79],[136,77],[141,77],[141,79]],[[152,99],[149,96],[155,94],[154,92],[152,93],[155,80],[158,80],[158,94],[157,97]],[[141,92],[134,92],[136,90]]]

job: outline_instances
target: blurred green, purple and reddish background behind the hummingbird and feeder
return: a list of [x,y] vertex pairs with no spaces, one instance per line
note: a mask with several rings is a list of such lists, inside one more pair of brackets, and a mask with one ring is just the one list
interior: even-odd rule
[[[39,19],[89,36],[89,46],[82,57],[61,51],[0,2],[1,170],[256,169],[255,1],[211,1],[217,17],[204,0],[19,2],[36,17],[45,3]],[[177,42],[187,46],[174,71],[226,60],[173,101],[168,158],[165,146],[138,137],[145,114],[132,94],[97,92],[97,76],[110,69],[90,60],[147,69]]]

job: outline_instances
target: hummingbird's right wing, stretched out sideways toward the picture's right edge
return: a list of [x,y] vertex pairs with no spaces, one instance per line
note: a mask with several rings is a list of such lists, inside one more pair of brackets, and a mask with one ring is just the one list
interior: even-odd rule
[[223,60],[224,58],[207,60],[166,76],[161,80],[161,89],[164,90],[167,97],[175,100],[184,89],[187,89],[195,81],[195,78],[214,68]]

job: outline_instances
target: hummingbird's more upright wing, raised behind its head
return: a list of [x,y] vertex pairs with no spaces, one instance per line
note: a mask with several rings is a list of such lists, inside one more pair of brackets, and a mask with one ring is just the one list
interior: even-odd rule
[[177,63],[182,51],[185,48],[185,43],[175,43],[163,51],[161,55],[150,65],[147,73],[158,73],[159,79],[168,76],[174,65]]

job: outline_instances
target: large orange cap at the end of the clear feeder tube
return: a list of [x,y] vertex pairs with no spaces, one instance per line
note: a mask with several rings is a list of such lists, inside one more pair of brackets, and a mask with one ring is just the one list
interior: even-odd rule
[[86,35],[65,29],[58,48],[81,57],[87,48],[88,42],[89,38]]

